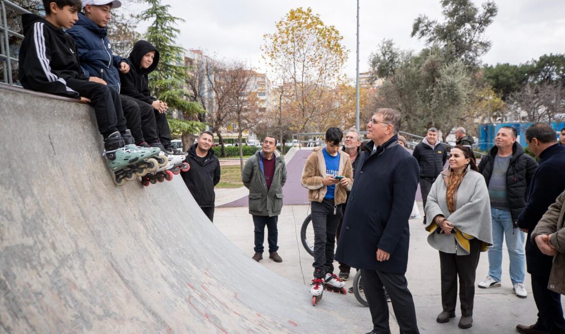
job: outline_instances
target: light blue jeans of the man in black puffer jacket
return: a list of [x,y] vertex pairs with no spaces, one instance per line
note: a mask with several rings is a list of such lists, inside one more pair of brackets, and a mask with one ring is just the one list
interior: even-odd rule
[[488,250],[489,276],[501,281],[502,276],[502,242],[506,237],[506,248],[510,257],[510,280],[512,285],[524,283],[526,233],[514,228],[510,210],[490,208],[493,221],[493,246]]

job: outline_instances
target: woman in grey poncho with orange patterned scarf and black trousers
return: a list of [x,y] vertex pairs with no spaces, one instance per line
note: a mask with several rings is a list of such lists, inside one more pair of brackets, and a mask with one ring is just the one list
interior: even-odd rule
[[455,317],[459,276],[459,328],[466,329],[473,322],[479,254],[492,245],[489,192],[473,151],[462,145],[451,150],[449,167],[440,176],[425,206],[428,243],[440,251],[443,311],[436,320],[446,323]]

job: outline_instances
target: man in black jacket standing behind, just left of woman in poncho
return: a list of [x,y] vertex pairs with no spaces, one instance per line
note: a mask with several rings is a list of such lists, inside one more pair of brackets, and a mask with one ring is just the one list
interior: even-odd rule
[[437,135],[436,128],[429,128],[426,137],[414,148],[412,153],[412,156],[416,158],[420,166],[420,192],[424,209],[429,190],[432,189],[432,184],[436,181],[436,177],[444,170],[444,165],[447,161],[447,151]]

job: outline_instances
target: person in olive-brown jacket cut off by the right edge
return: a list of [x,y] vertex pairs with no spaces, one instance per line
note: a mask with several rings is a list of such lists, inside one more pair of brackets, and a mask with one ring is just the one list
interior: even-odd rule
[[547,289],[565,294],[565,192],[549,206],[532,232],[532,242],[545,255],[554,255]]

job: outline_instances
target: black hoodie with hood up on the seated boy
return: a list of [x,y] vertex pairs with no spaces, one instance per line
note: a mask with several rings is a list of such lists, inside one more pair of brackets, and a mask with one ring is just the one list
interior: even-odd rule
[[[149,68],[141,68],[141,58],[149,51],[155,51],[153,64]],[[129,54],[128,60],[132,66],[129,68],[128,73],[120,72],[120,94],[137,98],[149,104],[153,103],[157,98],[152,97],[151,92],[149,92],[149,79],[147,75],[153,72],[159,64],[159,51],[150,42],[137,41]]]

